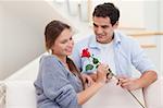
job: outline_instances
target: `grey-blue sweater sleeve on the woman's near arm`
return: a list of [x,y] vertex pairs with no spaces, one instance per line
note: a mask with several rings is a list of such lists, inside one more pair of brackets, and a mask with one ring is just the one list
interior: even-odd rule
[[67,72],[55,59],[46,58],[41,64],[45,95],[61,108],[78,108],[77,95],[67,80]]

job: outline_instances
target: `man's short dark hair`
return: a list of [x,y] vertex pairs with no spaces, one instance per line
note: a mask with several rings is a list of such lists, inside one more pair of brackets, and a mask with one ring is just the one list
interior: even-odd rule
[[95,8],[92,16],[110,17],[111,24],[114,25],[120,17],[120,11],[113,3],[103,3]]

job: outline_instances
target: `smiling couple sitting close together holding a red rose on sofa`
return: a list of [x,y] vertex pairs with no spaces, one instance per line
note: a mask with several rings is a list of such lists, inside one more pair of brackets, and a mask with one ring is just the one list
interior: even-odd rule
[[[114,31],[118,17],[120,11],[113,3],[97,5],[92,13],[96,35],[76,44],[74,49],[71,26],[60,21],[46,26],[46,48],[51,55],[41,58],[35,81],[38,108],[80,108],[110,80],[109,69],[116,72],[118,85],[129,91],[156,80],[153,64],[137,41]],[[101,63],[93,68],[89,58]],[[140,77],[130,79],[131,65],[141,73]]]

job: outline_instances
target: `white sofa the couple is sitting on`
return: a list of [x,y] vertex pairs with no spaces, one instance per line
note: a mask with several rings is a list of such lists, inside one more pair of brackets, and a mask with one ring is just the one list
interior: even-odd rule
[[[34,60],[9,79],[0,82],[0,108],[36,108],[34,81],[38,72],[38,61]],[[113,79],[83,108],[141,108],[125,89],[115,85]],[[137,98],[146,108],[163,108],[163,77],[149,87],[135,91]]]

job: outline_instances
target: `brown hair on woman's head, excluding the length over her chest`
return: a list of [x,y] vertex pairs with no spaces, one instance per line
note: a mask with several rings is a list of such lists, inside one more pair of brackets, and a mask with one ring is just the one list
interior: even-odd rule
[[55,39],[60,36],[60,34],[65,29],[71,28],[70,25],[62,23],[60,21],[51,21],[45,29],[46,37],[46,48],[49,50],[54,44]]

